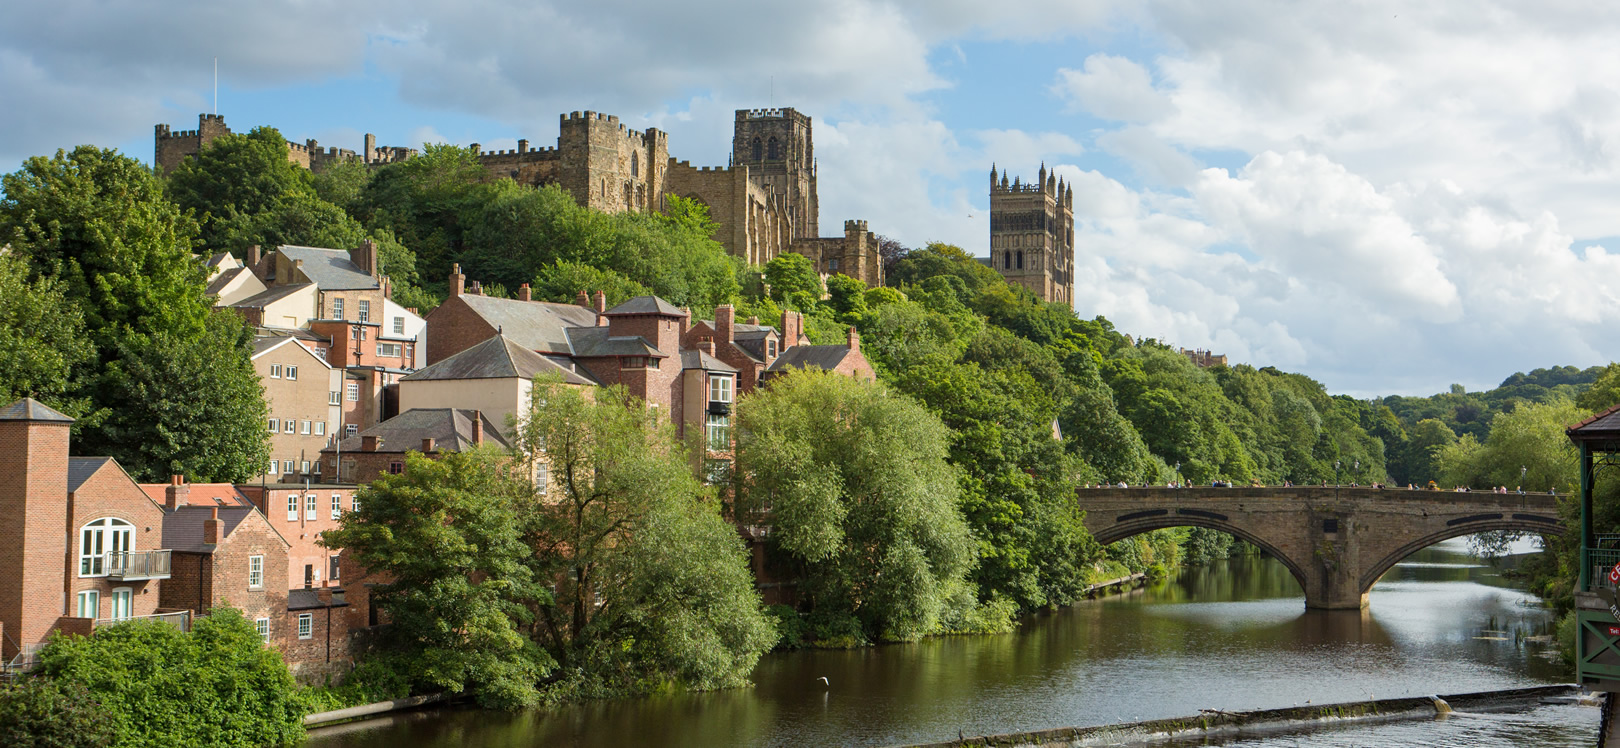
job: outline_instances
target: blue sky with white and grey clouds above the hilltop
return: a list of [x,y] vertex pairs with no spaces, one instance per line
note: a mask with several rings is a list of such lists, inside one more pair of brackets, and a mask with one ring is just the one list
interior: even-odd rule
[[[815,118],[821,225],[988,248],[995,164],[1074,189],[1082,317],[1356,397],[1620,358],[1620,5],[23,0],[0,172],[152,126],[554,144],[595,110],[724,165]],[[219,65],[215,104],[215,58]]]

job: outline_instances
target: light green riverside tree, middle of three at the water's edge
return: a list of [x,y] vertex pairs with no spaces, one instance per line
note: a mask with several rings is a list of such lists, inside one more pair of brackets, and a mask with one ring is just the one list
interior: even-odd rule
[[533,546],[556,597],[536,640],[580,695],[745,683],[776,630],[742,539],[667,424],[620,387],[593,395],[536,379],[520,421],[523,460],[549,484]]

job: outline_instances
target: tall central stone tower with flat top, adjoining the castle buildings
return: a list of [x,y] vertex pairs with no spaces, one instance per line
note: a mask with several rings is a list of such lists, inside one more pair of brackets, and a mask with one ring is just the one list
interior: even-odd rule
[[794,108],[739,108],[731,164],[747,165],[750,181],[774,191],[787,204],[792,238],[821,235],[808,115]]

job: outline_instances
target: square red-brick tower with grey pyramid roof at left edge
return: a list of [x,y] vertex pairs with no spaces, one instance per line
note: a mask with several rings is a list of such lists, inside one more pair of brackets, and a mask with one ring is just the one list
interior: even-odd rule
[[34,398],[0,406],[0,656],[37,644],[66,612],[68,429]]

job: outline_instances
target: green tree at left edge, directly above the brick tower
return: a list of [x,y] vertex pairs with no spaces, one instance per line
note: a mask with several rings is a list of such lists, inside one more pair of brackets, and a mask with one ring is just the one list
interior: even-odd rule
[[52,277],[28,280],[28,264],[0,251],[0,403],[32,397],[66,414],[83,414],[71,376],[94,350],[84,316]]

